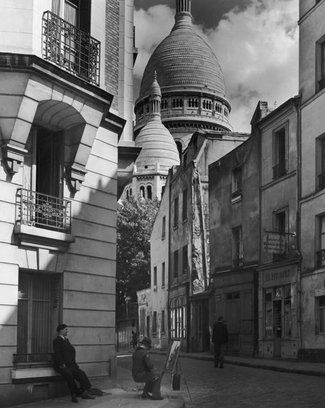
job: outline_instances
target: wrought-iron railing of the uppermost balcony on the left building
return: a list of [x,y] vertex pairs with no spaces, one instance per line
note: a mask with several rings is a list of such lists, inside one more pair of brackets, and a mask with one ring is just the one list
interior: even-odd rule
[[43,58],[99,85],[100,41],[46,11],[42,25]]

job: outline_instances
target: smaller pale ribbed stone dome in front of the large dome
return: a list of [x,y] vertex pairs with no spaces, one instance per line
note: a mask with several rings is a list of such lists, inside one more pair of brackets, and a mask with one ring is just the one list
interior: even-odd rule
[[142,128],[135,139],[135,147],[142,147],[135,165],[137,169],[159,164],[161,169],[179,165],[179,153],[170,131],[155,116]]

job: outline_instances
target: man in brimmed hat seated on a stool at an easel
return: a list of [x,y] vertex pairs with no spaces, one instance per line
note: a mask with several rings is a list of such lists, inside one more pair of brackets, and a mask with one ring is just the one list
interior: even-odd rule
[[[153,363],[149,356],[151,340],[144,337],[132,356],[132,376],[136,383],[146,383],[142,398],[163,400],[160,394],[161,375],[153,371]],[[150,396],[148,393],[152,393]]]

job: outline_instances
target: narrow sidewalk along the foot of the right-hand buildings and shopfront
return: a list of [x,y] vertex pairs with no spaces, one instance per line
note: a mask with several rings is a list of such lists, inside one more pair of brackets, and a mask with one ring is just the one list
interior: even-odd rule
[[[166,354],[165,352],[153,352]],[[210,352],[201,353],[180,353],[180,358],[196,358],[199,360],[214,362],[214,355]],[[279,359],[268,359],[260,357],[225,356],[225,365],[243,365],[245,367],[255,367],[262,369],[272,369],[278,372],[291,372],[295,374],[305,374],[309,376],[325,376],[325,363],[302,363],[298,361],[284,361]]]

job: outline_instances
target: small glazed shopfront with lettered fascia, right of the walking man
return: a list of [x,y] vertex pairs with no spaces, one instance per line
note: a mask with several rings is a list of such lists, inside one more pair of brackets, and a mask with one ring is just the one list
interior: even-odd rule
[[297,264],[259,271],[258,352],[260,356],[297,358]]

